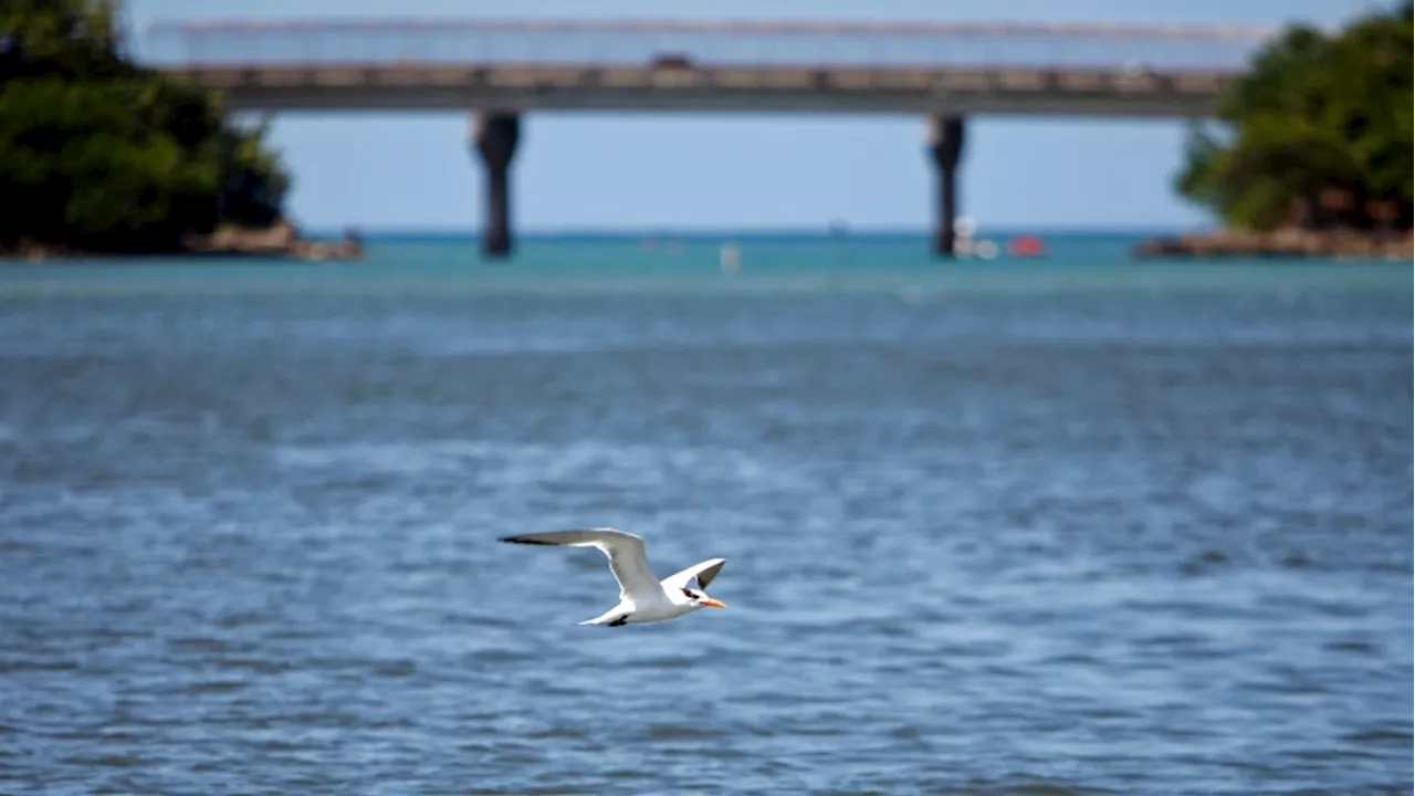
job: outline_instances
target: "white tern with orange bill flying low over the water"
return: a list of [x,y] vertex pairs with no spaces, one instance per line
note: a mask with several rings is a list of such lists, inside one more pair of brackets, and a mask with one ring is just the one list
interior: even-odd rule
[[[727,608],[702,591],[717,576],[723,565],[722,558],[710,558],[659,581],[648,565],[644,540],[614,528],[522,534],[505,537],[501,541],[593,547],[610,559],[610,571],[614,572],[614,579],[620,584],[620,602],[594,619],[580,622],[580,625],[618,627],[676,619],[699,608]],[[698,579],[696,589],[688,585],[693,578]]]

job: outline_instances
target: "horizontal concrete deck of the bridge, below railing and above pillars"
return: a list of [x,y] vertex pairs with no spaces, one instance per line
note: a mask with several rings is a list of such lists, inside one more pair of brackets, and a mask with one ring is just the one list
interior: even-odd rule
[[192,67],[256,110],[746,110],[1203,116],[1221,72],[545,65]]

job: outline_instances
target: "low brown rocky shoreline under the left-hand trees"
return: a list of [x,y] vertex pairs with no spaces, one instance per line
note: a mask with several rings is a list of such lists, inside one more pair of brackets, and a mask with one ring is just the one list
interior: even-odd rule
[[0,252],[0,261],[47,262],[81,256],[246,256],[272,259],[300,259],[308,262],[357,261],[364,258],[364,242],[347,232],[338,241],[301,238],[294,225],[276,222],[263,229],[219,227],[211,234],[188,235],[173,252],[137,255],[109,255],[74,251],[62,245],[21,241],[13,251]]

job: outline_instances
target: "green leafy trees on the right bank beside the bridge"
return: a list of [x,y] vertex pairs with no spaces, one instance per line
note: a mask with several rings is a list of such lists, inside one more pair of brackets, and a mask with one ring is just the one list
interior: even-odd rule
[[1415,0],[1295,27],[1190,133],[1180,194],[1235,227],[1415,227]]

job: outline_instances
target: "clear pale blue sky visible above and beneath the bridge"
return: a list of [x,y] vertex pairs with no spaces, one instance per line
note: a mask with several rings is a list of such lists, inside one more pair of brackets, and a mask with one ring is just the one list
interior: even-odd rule
[[[1368,3],[1368,6],[1374,6]],[[1340,24],[1350,0],[127,0],[136,28],[195,18],[805,18]],[[481,174],[460,113],[287,113],[273,143],[310,228],[475,229]],[[923,119],[541,113],[524,120],[522,231],[852,227],[925,229]],[[976,118],[959,191],[985,227],[1172,228],[1208,220],[1172,190],[1177,120]]]

